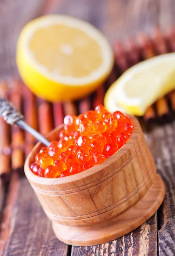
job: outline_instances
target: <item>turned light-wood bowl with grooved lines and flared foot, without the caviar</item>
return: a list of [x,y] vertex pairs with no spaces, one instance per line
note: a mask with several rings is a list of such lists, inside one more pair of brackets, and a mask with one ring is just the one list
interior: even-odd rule
[[[165,186],[141,127],[130,140],[103,163],[68,177],[47,179],[30,170],[43,146],[37,143],[25,162],[25,175],[56,237],[72,245],[95,245],[123,236],[150,218],[161,205]],[[63,125],[48,134],[59,137]]]

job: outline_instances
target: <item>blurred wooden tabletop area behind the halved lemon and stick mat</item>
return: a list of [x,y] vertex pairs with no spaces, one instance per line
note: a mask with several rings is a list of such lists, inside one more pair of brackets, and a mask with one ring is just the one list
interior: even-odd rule
[[175,22],[173,0],[0,0],[0,76],[17,73],[15,52],[21,29],[48,13],[72,15],[94,24],[110,42],[150,34],[158,26],[167,32]]

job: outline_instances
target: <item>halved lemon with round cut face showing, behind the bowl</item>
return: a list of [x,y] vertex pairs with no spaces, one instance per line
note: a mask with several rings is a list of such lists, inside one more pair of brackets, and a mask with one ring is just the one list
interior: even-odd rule
[[104,35],[73,17],[46,15],[32,20],[18,39],[17,67],[23,81],[51,102],[93,92],[113,63],[113,50]]

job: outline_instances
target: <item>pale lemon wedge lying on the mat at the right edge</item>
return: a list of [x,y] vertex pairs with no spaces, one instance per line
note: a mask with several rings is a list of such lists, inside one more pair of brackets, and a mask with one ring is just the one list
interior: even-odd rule
[[157,99],[175,89],[175,53],[142,61],[125,71],[108,89],[105,107],[142,116]]

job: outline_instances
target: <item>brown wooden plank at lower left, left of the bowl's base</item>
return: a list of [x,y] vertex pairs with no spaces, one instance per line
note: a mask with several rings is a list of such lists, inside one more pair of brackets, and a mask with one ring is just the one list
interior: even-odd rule
[[12,207],[11,220],[6,225],[10,229],[3,255],[66,256],[68,246],[54,236],[51,221],[25,177],[18,181],[16,188],[10,190],[9,197],[14,197],[14,206],[9,206]]

